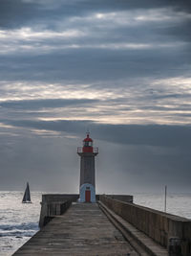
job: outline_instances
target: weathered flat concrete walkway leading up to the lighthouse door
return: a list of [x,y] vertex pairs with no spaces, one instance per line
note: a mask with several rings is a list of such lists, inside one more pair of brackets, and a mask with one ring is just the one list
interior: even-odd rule
[[97,204],[75,203],[49,222],[14,255],[129,255],[138,253],[124,240]]

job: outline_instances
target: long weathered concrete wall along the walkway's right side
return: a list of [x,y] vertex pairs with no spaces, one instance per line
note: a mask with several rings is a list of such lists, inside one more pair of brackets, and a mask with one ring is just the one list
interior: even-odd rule
[[162,246],[169,248],[170,239],[175,239],[181,255],[191,255],[190,220],[107,196],[99,196],[99,200]]

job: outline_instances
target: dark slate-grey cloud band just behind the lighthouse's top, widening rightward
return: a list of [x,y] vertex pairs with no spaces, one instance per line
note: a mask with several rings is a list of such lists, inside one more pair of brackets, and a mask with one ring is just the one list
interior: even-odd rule
[[103,125],[84,121],[2,121],[4,124],[53,131],[65,131],[83,136],[90,128],[99,140],[124,145],[145,145],[158,147],[189,147],[191,145],[191,127],[159,125]]

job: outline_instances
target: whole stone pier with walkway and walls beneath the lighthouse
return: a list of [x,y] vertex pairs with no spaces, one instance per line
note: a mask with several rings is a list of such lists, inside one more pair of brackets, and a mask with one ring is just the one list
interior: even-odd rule
[[14,255],[191,256],[191,220],[133,203],[132,196],[43,195],[40,231]]

